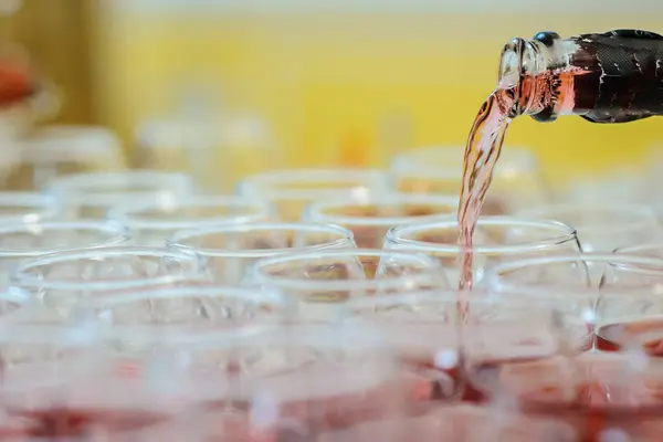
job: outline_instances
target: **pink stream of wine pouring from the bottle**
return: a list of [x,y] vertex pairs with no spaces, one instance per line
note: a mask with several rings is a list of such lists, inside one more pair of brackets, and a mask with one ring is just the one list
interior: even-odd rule
[[472,290],[472,236],[481,213],[493,168],[499,158],[504,135],[512,122],[509,112],[515,102],[515,88],[499,87],[485,101],[476,118],[467,145],[463,166],[463,182],[459,204],[459,244],[462,246],[459,290]]

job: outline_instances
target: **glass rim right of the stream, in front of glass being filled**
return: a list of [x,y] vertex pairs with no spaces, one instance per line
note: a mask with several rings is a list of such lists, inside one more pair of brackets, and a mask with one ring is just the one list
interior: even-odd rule
[[[559,291],[566,290],[568,287],[559,287],[555,288],[549,284],[545,285],[520,285],[518,283],[508,283],[505,282],[503,277],[501,277],[504,273],[517,272],[522,269],[527,269],[528,266],[541,266],[547,264],[560,264],[560,263],[578,263],[582,262],[585,264],[592,262],[600,262],[606,265],[615,265],[618,267],[627,267],[631,270],[636,270],[638,272],[642,272],[644,274],[648,273],[646,269],[638,269],[638,267],[629,267],[629,264],[642,264],[642,263],[652,263],[657,265],[661,271],[651,270],[651,274],[661,274],[663,275],[663,257],[656,256],[643,256],[643,255],[629,255],[629,254],[618,254],[618,253],[594,253],[594,252],[582,252],[582,253],[565,253],[565,254],[551,254],[547,256],[529,256],[529,257],[520,257],[508,262],[502,262],[495,264],[488,269],[486,269],[486,273],[484,275],[484,281],[486,288],[490,292],[496,292],[498,294],[506,293],[533,293],[533,294],[547,294],[549,292],[550,295],[555,293],[559,293]],[[587,287],[575,287],[573,291],[579,291],[581,293],[588,294],[602,294],[609,295],[611,291],[614,291],[621,296],[623,296],[624,287],[593,287],[588,281]],[[646,287],[628,287],[629,296],[633,296],[631,293],[644,294],[651,296],[651,288]],[[635,295],[635,296],[638,296]]]

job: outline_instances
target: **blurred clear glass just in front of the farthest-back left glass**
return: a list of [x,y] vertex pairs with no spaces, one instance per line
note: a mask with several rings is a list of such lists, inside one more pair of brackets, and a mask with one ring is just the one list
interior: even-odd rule
[[76,173],[53,180],[46,191],[71,218],[104,218],[130,201],[178,201],[194,192],[191,177],[154,170]]

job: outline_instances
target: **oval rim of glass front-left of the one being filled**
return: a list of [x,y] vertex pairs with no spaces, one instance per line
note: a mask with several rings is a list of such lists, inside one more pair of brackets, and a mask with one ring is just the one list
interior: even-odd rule
[[[319,259],[334,259],[334,257],[348,257],[348,256],[378,256],[378,257],[390,257],[398,255],[399,257],[406,257],[409,263],[421,264],[421,269],[424,270],[422,273],[414,273],[408,275],[398,275],[392,277],[385,277],[380,280],[375,278],[362,278],[362,280],[303,280],[296,277],[282,277],[265,274],[263,271],[265,267],[272,265],[283,265],[286,263],[306,263],[312,260]],[[246,272],[246,281],[250,284],[265,285],[275,287],[278,291],[287,293],[288,290],[307,291],[315,290],[320,292],[326,291],[349,291],[349,290],[370,290],[370,288],[390,288],[390,287],[402,287],[410,286],[413,283],[422,282],[430,283],[431,280],[444,283],[445,287],[449,288],[450,282],[443,272],[443,267],[440,261],[423,254],[410,251],[390,251],[385,249],[329,249],[324,251],[304,251],[294,252],[286,255],[265,257],[254,263]],[[449,287],[448,287],[449,286]]]

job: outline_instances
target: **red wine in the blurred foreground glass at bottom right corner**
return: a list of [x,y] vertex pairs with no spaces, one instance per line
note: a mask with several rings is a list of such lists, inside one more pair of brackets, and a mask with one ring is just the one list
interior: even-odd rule
[[477,367],[471,378],[497,404],[564,422],[577,441],[604,442],[611,440],[604,433],[615,429],[643,436],[641,422],[663,429],[663,371],[633,362],[623,354],[495,361]]

